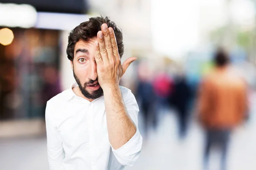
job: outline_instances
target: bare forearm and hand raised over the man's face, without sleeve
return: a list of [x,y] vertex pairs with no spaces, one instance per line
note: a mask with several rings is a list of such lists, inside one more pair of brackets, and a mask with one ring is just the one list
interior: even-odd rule
[[118,149],[136,132],[119,88],[122,75],[136,58],[128,58],[121,65],[114,31],[107,24],[102,24],[102,31],[98,32],[97,39],[94,48],[98,82],[105,97],[109,139],[113,148]]

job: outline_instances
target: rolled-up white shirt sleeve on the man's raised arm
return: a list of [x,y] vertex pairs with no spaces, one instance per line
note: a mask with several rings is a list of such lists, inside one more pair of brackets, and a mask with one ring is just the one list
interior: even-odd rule
[[138,128],[139,107],[131,91],[128,92],[128,99],[125,101],[125,107],[130,118],[134,122],[134,125],[136,126],[136,133],[122,147],[119,147],[115,150],[111,145],[111,148],[120,164],[132,166],[137,161],[140,155],[143,138],[140,135],[140,131]]

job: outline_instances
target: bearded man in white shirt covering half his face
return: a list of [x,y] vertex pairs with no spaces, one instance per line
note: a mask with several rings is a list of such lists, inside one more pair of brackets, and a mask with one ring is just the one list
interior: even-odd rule
[[[47,102],[50,170],[121,170],[138,159],[142,137],[134,95],[119,80],[122,32],[108,17],[94,17],[70,32],[67,57],[76,84]],[[103,96],[104,94],[104,96]]]

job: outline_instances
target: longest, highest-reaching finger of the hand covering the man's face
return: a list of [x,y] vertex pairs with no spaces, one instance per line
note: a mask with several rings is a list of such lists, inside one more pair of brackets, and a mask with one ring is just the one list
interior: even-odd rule
[[112,45],[111,45],[111,40],[109,36],[109,31],[108,31],[108,25],[107,24],[102,24],[102,33],[103,33],[103,40],[105,43],[105,48],[107,50],[108,54],[108,59],[110,62],[113,62],[113,50],[112,50]]

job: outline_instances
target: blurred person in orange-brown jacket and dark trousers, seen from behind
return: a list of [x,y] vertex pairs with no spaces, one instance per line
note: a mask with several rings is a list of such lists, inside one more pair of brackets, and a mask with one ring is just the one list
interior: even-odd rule
[[204,166],[207,168],[210,148],[218,144],[221,170],[225,170],[230,133],[246,116],[247,89],[243,79],[230,68],[223,50],[216,53],[214,60],[216,67],[203,79],[199,96],[200,119],[206,129]]

